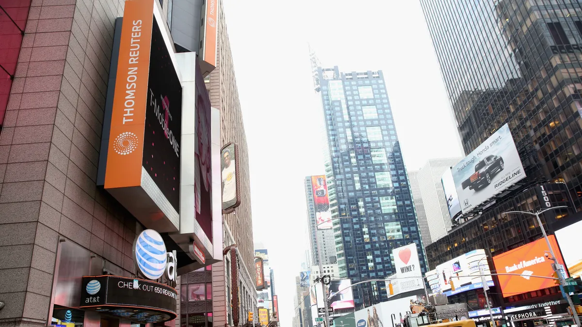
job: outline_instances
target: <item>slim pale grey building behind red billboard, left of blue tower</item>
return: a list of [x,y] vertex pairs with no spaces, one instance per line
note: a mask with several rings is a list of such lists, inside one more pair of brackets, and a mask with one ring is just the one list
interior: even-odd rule
[[[311,185],[311,176],[305,177],[305,198],[307,201],[307,223],[309,228],[309,241],[311,245],[311,262],[319,265],[319,251],[321,250],[321,264],[334,264],[336,259],[335,240],[332,229],[317,229],[315,222],[315,203],[313,198],[313,187]],[[317,234],[317,235],[316,235]],[[317,237],[317,241],[315,240]],[[317,248],[319,242],[320,248]]]

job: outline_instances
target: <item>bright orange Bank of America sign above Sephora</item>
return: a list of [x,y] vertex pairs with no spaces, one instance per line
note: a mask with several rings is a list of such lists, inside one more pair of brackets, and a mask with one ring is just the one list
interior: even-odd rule
[[[556,259],[560,264],[564,263],[556,237],[548,236]],[[516,273],[517,275],[498,275],[499,285],[503,297],[547,289],[555,286],[553,279],[534,276],[551,277],[553,273],[552,260],[545,257],[549,251],[545,239],[533,241],[511,251],[493,257],[493,264],[497,273]]]

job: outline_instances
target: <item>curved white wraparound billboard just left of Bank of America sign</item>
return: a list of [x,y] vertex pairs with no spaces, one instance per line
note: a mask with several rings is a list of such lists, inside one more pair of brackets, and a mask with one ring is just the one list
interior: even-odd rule
[[[473,250],[440,264],[428,272],[426,277],[433,293],[442,292],[446,296],[451,296],[483,287],[479,266],[483,269],[483,275],[491,273],[483,249]],[[455,291],[451,290],[451,280],[455,285]],[[485,281],[488,286],[494,286],[491,276],[485,276]]]

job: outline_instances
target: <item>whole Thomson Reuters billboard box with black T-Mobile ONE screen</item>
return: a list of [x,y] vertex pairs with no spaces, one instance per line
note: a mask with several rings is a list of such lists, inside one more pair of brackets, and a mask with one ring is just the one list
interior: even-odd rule
[[154,0],[125,2],[104,187],[148,227],[175,232],[182,81],[161,17]]

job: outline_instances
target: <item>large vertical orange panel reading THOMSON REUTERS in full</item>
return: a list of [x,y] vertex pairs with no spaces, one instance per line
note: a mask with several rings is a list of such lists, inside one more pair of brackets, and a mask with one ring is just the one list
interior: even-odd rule
[[139,186],[154,0],[126,0],[113,97],[105,189]]

